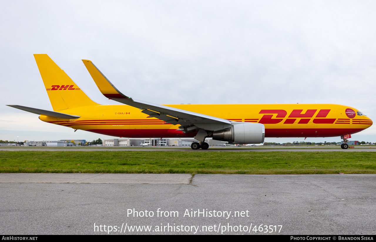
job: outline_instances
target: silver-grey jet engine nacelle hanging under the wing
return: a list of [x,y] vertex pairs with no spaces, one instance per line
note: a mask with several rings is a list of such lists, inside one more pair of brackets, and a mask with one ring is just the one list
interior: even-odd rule
[[213,139],[237,144],[260,144],[264,138],[265,127],[259,123],[239,122],[230,128],[213,132]]

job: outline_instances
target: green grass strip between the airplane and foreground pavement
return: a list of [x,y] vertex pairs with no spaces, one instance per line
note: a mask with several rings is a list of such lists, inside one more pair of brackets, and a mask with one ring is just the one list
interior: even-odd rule
[[0,172],[374,174],[376,153],[0,151]]

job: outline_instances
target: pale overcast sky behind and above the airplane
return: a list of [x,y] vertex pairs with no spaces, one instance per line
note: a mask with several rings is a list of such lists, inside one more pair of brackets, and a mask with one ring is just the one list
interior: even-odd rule
[[[118,103],[81,59],[153,103],[335,103],[376,120],[375,12],[375,1],[342,0],[2,1],[0,139],[110,138],[5,106],[52,110],[33,57],[42,53],[101,104]],[[376,128],[352,137],[376,142]]]

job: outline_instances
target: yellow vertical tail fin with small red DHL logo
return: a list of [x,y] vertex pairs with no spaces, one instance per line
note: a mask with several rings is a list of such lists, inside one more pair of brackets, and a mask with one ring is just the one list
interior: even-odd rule
[[34,54],[54,111],[99,105],[92,101],[47,54]]

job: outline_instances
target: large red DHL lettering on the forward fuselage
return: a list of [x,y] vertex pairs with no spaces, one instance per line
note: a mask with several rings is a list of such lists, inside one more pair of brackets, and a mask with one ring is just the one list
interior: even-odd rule
[[[335,118],[326,118],[331,109],[308,109],[305,113],[303,109],[294,109],[290,115],[288,115],[284,124],[293,124],[296,122],[297,118],[300,118],[298,124],[308,124],[312,117],[317,112],[312,123],[314,124],[332,124],[336,120]],[[287,111],[283,109],[263,109],[259,114],[264,114],[258,123],[261,124],[278,124],[287,116]],[[276,114],[276,118],[273,116]],[[252,122],[252,121],[250,121]]]

